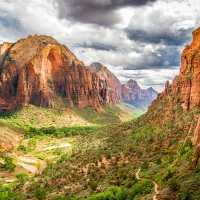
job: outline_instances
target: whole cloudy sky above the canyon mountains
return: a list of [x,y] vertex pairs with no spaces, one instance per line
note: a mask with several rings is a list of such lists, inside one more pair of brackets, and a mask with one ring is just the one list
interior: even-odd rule
[[43,34],[85,65],[162,91],[200,26],[199,0],[0,0],[0,43]]

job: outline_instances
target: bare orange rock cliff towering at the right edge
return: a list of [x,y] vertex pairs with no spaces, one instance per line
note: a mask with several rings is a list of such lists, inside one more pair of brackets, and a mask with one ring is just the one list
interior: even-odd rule
[[169,103],[181,103],[184,111],[200,106],[200,28],[193,33],[193,41],[187,45],[181,56],[180,75],[165,84],[159,98],[168,97]]

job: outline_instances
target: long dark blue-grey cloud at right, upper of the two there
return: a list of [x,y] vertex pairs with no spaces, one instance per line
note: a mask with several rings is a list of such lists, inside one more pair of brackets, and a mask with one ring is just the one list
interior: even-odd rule
[[191,41],[191,32],[193,29],[180,29],[176,33],[163,30],[162,32],[154,30],[146,31],[142,29],[127,28],[125,32],[130,40],[143,43],[163,43],[166,45],[183,45]]

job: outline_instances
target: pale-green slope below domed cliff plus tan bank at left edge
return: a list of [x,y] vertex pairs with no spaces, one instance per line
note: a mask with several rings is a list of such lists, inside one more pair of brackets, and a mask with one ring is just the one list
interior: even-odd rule
[[11,114],[1,113],[0,116],[0,143],[12,146],[15,139],[23,138],[30,128],[102,126],[130,120],[136,115],[115,105],[104,106],[101,110],[92,107],[51,109],[28,105]]

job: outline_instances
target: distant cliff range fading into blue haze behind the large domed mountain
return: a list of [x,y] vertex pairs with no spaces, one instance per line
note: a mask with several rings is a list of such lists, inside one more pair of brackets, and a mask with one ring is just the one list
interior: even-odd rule
[[137,82],[132,79],[126,84],[121,84],[119,79],[100,63],[93,63],[88,69],[107,86],[108,95],[113,102],[125,101],[146,110],[152,100],[157,97],[158,93],[152,87],[146,90],[141,89]]

